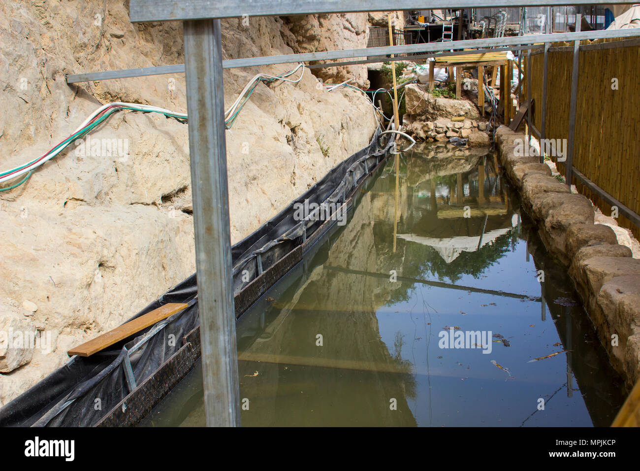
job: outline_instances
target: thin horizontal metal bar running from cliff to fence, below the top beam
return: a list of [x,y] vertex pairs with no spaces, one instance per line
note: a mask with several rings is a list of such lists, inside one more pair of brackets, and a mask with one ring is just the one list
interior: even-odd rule
[[[424,58],[432,57],[435,53],[451,51],[451,49],[483,49],[487,47],[499,47],[500,50],[508,49],[536,49],[540,47],[540,43],[571,41],[582,39],[598,39],[598,38],[620,38],[620,37],[637,37],[640,36],[640,28],[627,29],[602,29],[599,31],[581,31],[579,33],[554,33],[550,35],[529,35],[515,36],[504,38],[486,38],[486,39],[470,39],[464,41],[452,42],[435,42],[426,44],[409,44],[395,45],[383,47],[365,47],[363,49],[346,49],[344,51],[324,51],[319,53],[303,53],[303,54],[286,54],[280,56],[264,56],[243,59],[230,59],[222,62],[224,69],[234,69],[236,67],[256,67],[258,65],[274,65],[279,63],[299,63],[299,62],[316,62],[320,60],[335,60],[347,58],[377,58],[378,56],[387,56],[389,54],[406,54],[406,53],[424,53]],[[606,43],[616,44],[616,42]],[[584,45],[582,47],[585,47]],[[614,47],[614,46],[608,46]],[[492,49],[495,52],[495,49]],[[477,53],[478,51],[454,51],[444,55],[456,55],[458,53]],[[434,53],[434,54],[428,54]],[[414,57],[415,58],[415,57]],[[345,65],[353,65],[356,63],[369,63],[369,59],[362,59],[350,62]],[[380,62],[373,60],[371,62]],[[335,67],[341,64],[327,65],[326,67]],[[184,73],[184,64],[163,65],[161,67],[142,67],[139,69],[109,70],[107,72],[87,72],[83,74],[68,74],[67,83],[77,83],[86,81],[120,79],[129,77],[141,77],[161,74],[180,74]]]

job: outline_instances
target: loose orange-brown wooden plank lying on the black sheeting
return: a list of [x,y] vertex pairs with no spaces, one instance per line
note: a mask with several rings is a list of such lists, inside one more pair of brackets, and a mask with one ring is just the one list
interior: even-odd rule
[[146,329],[148,326],[152,326],[167,317],[172,316],[173,314],[182,311],[187,307],[187,304],[180,302],[170,302],[168,304],[164,304],[164,306],[160,306],[157,309],[154,309],[151,312],[148,312],[140,317],[135,318],[134,320],[130,320],[129,322],[122,324],[122,326],[118,326],[115,329],[108,331],[102,335],[89,340],[89,342],[85,342],[82,345],[79,345],[70,351],[67,352],[68,356],[78,355],[78,356],[92,356],[94,353],[97,353],[101,350],[106,349],[113,345],[114,343],[120,342],[120,340],[124,340],[125,338],[140,332],[143,329]]

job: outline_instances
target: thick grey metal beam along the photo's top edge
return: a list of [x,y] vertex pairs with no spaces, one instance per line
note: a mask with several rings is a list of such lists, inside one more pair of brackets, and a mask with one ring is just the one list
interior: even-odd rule
[[[308,13],[386,12],[424,8],[491,8],[497,6],[564,5],[566,0],[131,0],[131,22],[198,20],[247,16],[307,15]],[[572,5],[628,3],[624,0],[572,0]]]

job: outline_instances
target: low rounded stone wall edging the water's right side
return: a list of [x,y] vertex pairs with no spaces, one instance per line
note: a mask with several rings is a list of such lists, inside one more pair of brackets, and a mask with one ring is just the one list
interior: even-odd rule
[[495,138],[524,210],[540,226],[548,252],[568,268],[613,367],[631,388],[640,379],[640,260],[618,244],[611,227],[594,224],[591,201],[572,194],[538,156],[515,155],[524,133],[500,126]]

